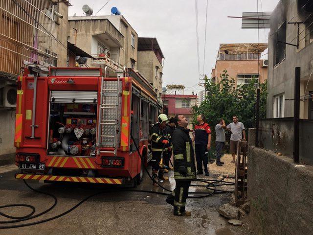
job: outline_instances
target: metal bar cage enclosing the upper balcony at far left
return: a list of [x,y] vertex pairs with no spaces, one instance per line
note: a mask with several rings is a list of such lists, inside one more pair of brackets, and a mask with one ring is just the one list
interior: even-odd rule
[[0,71],[20,73],[22,61],[57,59],[51,0],[0,0]]

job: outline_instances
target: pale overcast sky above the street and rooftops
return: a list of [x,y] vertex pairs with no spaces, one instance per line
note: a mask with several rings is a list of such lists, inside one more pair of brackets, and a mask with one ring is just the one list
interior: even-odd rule
[[[259,11],[272,11],[279,0],[259,0]],[[107,0],[71,0],[68,16],[83,15],[82,6],[93,14]],[[262,9],[261,9],[262,4]],[[202,90],[198,76],[195,0],[110,0],[97,15],[111,15],[116,6],[139,37],[156,37],[164,54],[163,87],[183,84],[185,94]],[[200,71],[203,72],[206,0],[198,0]],[[257,11],[257,0],[209,0],[204,73],[211,74],[220,43],[257,43],[256,29],[241,29],[242,12]],[[260,29],[259,42],[268,42],[268,29]]]

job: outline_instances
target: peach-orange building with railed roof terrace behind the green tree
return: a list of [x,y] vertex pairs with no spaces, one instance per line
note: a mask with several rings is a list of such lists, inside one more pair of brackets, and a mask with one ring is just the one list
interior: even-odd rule
[[218,83],[226,70],[235,86],[248,84],[251,79],[255,79],[256,86],[263,83],[268,78],[268,61],[261,60],[261,53],[267,48],[267,43],[220,44],[212,81]]

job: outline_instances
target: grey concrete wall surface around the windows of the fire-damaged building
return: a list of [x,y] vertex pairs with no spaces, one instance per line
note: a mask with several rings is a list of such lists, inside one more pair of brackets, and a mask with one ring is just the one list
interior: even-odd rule
[[[300,24],[299,31],[303,31],[299,35],[299,49],[294,46],[286,45],[286,56],[283,61],[275,65],[275,32],[279,27],[290,19],[298,19],[302,22],[307,18],[303,12],[298,12],[297,0],[281,0],[275,10],[272,12],[270,20],[270,32],[268,39],[268,100],[267,100],[267,118],[273,117],[273,96],[277,94],[285,94],[285,115],[284,117],[293,117],[293,99],[294,96],[294,68],[301,67],[301,90],[300,96],[307,95],[309,91],[313,91],[313,81],[308,83],[311,71],[313,71],[313,43],[301,40],[308,34],[308,29],[304,30],[306,24]],[[287,24],[286,37],[289,42],[296,44],[297,29],[294,24]],[[287,40],[287,41],[288,41]],[[308,89],[305,92],[305,86]],[[310,90],[311,89],[311,90]],[[308,101],[300,101],[300,118],[308,118]]]

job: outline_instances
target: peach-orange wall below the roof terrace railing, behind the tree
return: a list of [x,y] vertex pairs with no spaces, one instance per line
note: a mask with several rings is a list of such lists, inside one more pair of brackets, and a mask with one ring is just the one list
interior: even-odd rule
[[[221,74],[224,70],[227,70],[229,78],[235,79],[237,85],[238,74],[258,74],[260,73],[260,83],[263,83],[268,79],[268,68],[262,67],[263,60],[217,60],[215,69],[212,70],[212,77],[216,77],[216,82],[220,80]],[[259,69],[258,69],[259,67]]]

